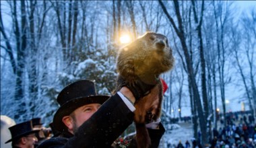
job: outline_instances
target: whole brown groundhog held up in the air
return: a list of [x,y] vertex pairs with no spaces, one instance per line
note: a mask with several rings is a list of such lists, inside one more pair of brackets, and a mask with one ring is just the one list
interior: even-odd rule
[[[133,85],[138,79],[144,83],[155,85],[150,94],[135,103],[134,122],[136,126],[137,147],[150,147],[151,141],[146,128],[146,112],[152,112],[152,120],[160,117],[162,108],[161,73],[169,71],[174,65],[172,49],[166,36],[154,32],[146,32],[131,44],[119,50],[117,55],[117,73],[126,83]],[[114,92],[121,89],[122,83],[117,81]]]

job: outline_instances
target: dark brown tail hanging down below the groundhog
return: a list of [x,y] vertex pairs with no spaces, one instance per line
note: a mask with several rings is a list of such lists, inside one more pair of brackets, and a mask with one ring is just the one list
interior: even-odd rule
[[148,148],[151,145],[150,135],[145,123],[135,123],[137,148]]

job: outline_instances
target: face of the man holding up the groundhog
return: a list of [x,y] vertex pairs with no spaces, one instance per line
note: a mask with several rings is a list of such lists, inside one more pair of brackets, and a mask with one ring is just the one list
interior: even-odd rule
[[88,120],[100,106],[101,104],[87,104],[74,110],[71,113],[71,118],[73,118],[73,133],[75,133],[77,128],[86,122],[86,120]]

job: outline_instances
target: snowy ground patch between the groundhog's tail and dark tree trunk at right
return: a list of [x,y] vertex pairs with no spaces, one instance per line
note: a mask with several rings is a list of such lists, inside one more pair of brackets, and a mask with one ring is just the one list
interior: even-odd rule
[[167,148],[168,145],[169,147],[176,147],[179,141],[181,141],[184,147],[186,141],[189,141],[192,146],[193,124],[190,122],[181,122],[179,124],[168,124],[165,128],[166,131],[160,141],[160,148]]

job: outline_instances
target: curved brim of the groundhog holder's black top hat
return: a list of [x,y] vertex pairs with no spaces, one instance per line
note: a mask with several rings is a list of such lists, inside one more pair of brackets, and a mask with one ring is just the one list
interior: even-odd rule
[[67,127],[62,122],[63,116],[68,116],[75,109],[87,104],[103,104],[110,96],[88,96],[76,98],[63,104],[53,117],[53,126],[57,131],[63,131]]

